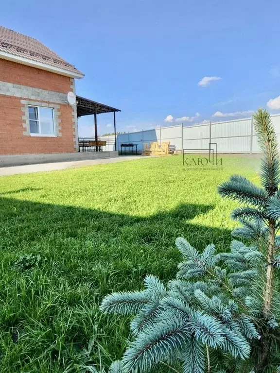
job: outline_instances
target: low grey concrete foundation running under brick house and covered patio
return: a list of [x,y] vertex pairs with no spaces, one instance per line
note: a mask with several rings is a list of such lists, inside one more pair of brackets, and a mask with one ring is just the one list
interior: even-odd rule
[[88,152],[88,153],[52,153],[52,154],[21,154],[0,155],[0,167],[34,165],[40,163],[85,161],[91,159],[114,158],[119,152]]

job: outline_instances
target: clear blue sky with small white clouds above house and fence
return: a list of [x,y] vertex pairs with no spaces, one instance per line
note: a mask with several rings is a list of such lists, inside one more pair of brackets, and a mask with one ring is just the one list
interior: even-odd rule
[[280,111],[279,0],[10,0],[0,14],[83,71],[77,94],[120,108],[120,131]]

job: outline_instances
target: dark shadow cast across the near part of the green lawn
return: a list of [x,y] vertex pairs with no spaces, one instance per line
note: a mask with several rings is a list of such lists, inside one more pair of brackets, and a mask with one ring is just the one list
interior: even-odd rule
[[[64,372],[79,360],[74,347],[85,347],[93,335],[96,365],[100,346],[105,365],[108,356],[120,358],[127,321],[100,315],[100,299],[112,290],[142,288],[147,273],[173,278],[181,260],[176,237],[186,237],[199,250],[211,242],[225,250],[230,231],[203,225],[203,215],[212,208],[180,204],[134,217],[0,198],[0,323],[5,331],[0,364],[5,372],[21,372],[22,366],[30,372]],[[197,215],[201,225],[189,221]],[[13,269],[19,255],[31,253],[42,258],[33,271]],[[23,331],[16,342],[15,330]]]

